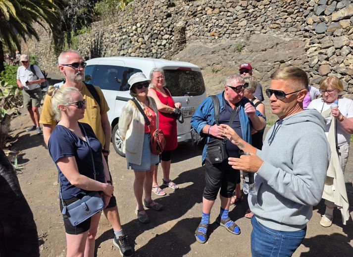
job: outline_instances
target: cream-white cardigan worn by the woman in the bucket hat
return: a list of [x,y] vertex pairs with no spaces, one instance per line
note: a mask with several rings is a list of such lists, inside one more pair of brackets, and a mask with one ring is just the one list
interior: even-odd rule
[[[147,96],[147,98],[150,101],[151,109],[155,113],[155,126],[156,129],[158,129],[159,118],[157,105],[152,97]],[[128,163],[141,165],[145,136],[145,119],[132,100],[129,100],[122,109],[119,118],[119,131],[123,140],[123,153],[126,155],[126,161]]]

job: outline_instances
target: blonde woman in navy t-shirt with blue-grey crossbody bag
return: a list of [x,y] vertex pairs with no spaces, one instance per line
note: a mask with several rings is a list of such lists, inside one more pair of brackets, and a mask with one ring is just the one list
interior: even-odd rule
[[[48,94],[52,96],[52,111],[59,121],[50,135],[48,150],[59,171],[60,210],[63,208],[62,202],[67,206],[91,191],[101,192],[106,206],[114,187],[107,183],[109,173],[101,153],[100,141],[88,124],[78,122],[86,109],[82,94],[75,87],[62,87],[59,90],[50,87]],[[96,179],[91,149],[83,129],[92,148]],[[67,256],[94,256],[100,217],[101,212],[73,226],[67,215],[63,214]]]

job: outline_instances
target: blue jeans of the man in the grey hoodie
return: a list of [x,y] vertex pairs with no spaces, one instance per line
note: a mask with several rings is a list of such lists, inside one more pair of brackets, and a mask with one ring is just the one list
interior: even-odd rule
[[252,257],[292,256],[301,245],[306,227],[299,231],[288,232],[268,228],[252,217],[251,251]]

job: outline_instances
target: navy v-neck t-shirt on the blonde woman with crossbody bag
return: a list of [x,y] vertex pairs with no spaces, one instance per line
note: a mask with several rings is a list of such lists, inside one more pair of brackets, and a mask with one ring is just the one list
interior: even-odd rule
[[[80,124],[85,128],[88,140],[90,141],[92,147],[92,154],[96,168],[96,180],[104,182],[104,168],[101,157],[101,143],[97,139],[90,125],[86,123]],[[85,134],[82,128],[81,131],[83,134]],[[90,147],[88,146],[86,141],[82,140],[70,129],[67,129],[61,125],[57,125],[50,134],[48,150],[55,165],[56,162],[62,157],[74,156],[80,174],[95,179],[93,173],[94,171]],[[59,171],[63,199],[69,199],[71,197],[76,197],[78,194],[86,194],[90,192],[71,185],[71,183],[60,171],[57,165],[56,168]]]

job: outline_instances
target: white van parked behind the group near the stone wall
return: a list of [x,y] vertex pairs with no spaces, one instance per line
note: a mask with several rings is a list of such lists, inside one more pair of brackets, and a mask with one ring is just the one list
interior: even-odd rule
[[118,129],[120,113],[131,99],[128,80],[136,72],[143,72],[147,78],[153,68],[163,69],[166,87],[175,102],[182,105],[184,123],[178,124],[178,142],[190,139],[190,118],[206,97],[201,70],[188,62],[168,61],[140,57],[101,57],[87,61],[85,81],[100,86],[110,110],[108,119],[112,129],[112,143],[115,151],[124,156],[122,140]]

